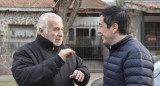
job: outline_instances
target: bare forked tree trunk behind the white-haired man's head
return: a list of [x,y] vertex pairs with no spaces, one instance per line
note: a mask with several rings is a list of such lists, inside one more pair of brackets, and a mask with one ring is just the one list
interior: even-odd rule
[[[57,13],[63,19],[64,24],[64,43],[66,43],[66,35],[73,24],[82,0],[54,0],[55,6],[53,12]],[[70,8],[72,6],[72,8]]]

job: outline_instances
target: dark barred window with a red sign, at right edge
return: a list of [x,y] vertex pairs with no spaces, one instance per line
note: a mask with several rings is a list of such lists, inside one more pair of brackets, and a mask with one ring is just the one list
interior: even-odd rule
[[150,51],[160,49],[160,22],[145,22],[145,46]]

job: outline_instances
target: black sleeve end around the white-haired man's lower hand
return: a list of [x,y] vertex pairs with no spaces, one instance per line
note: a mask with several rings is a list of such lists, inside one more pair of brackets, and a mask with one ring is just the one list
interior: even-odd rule
[[90,73],[88,71],[88,68],[83,64],[83,60],[78,56],[76,56],[76,59],[77,59],[77,70],[80,70],[81,72],[83,72],[85,75],[85,78],[83,82],[78,82],[77,80],[74,80],[74,82],[79,86],[86,86],[90,79]]

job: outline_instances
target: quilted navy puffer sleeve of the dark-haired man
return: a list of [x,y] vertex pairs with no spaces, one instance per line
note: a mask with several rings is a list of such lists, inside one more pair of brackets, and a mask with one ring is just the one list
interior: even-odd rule
[[145,52],[130,52],[123,64],[125,86],[153,86],[153,59]]

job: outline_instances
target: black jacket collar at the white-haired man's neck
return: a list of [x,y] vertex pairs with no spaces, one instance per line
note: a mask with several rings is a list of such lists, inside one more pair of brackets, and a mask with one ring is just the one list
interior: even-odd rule
[[54,45],[48,39],[42,37],[41,35],[37,35],[36,41],[43,46],[44,48],[54,48]]

